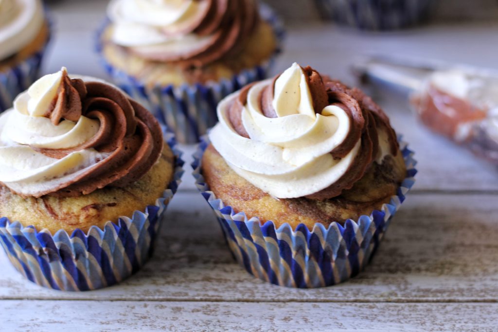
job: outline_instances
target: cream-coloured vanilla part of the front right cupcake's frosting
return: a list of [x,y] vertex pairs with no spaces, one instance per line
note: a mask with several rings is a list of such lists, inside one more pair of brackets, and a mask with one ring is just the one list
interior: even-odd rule
[[[239,93],[218,107],[220,122],[209,139],[230,167],[254,186],[277,198],[312,195],[334,184],[350,169],[361,139],[342,158],[330,153],[344,143],[351,118],[339,106],[328,105],[316,112],[303,69],[294,63],[274,84],[272,107],[276,117],[261,110],[260,96],[271,80],[249,89],[241,113],[249,137],[236,131],[229,115]],[[388,139],[379,130],[377,160],[388,153]]]

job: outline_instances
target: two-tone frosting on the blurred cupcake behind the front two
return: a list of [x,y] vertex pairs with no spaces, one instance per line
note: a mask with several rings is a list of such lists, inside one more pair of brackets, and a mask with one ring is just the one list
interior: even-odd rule
[[149,60],[202,66],[252,33],[254,0],[112,0],[112,41]]

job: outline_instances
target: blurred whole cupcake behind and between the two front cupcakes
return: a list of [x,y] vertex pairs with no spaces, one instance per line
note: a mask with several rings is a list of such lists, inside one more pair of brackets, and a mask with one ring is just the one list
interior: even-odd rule
[[222,98],[265,77],[282,37],[255,0],[112,0],[108,16],[106,69],[187,143],[217,122]]

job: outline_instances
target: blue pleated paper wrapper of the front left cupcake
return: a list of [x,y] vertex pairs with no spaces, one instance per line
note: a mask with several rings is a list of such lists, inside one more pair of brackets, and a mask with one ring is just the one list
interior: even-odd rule
[[59,230],[37,231],[33,226],[0,219],[0,243],[14,267],[30,281],[64,291],[87,291],[111,286],[136,272],[150,257],[166,207],[178,189],[183,161],[175,138],[165,134],[175,156],[173,181],[163,196],[131,218],[108,221],[87,234]]

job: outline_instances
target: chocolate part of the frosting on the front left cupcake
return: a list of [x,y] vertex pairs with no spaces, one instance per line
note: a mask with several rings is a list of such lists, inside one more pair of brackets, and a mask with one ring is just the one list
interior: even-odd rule
[[91,139],[68,149],[31,148],[57,159],[91,148],[110,155],[71,182],[36,197],[78,196],[105,186],[125,187],[140,179],[158,160],[163,148],[162,131],[150,112],[109,84],[71,80],[64,72],[45,117],[58,124],[63,118],[77,121],[82,115],[100,122]]

